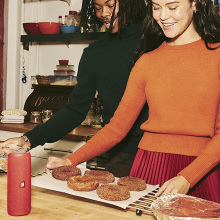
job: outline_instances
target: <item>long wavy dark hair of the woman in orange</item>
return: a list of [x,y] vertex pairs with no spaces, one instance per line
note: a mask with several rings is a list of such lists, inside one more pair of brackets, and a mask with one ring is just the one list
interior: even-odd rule
[[[189,0],[190,3],[193,0]],[[196,0],[196,12],[193,23],[197,33],[210,50],[216,49],[209,44],[220,42],[220,15],[211,0]],[[149,51],[158,48],[163,41],[168,40],[152,15],[152,0],[147,2],[147,13],[143,23],[143,34],[134,53],[133,63]]]

